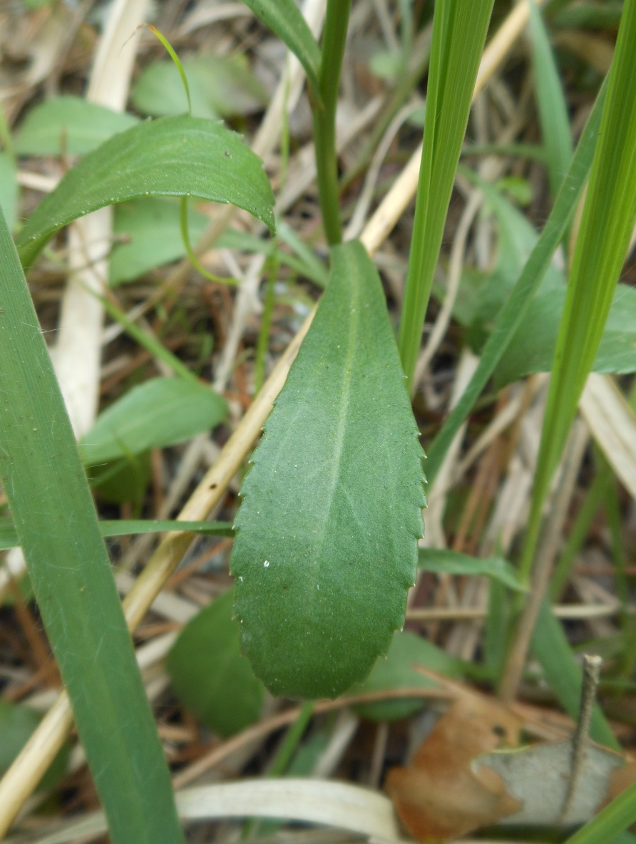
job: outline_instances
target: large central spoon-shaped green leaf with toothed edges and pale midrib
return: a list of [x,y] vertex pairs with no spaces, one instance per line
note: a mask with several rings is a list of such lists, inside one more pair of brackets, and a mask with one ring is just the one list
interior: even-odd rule
[[243,652],[291,697],[339,695],[387,651],[425,503],[378,273],[357,241],[332,259],[243,484],[231,561]]

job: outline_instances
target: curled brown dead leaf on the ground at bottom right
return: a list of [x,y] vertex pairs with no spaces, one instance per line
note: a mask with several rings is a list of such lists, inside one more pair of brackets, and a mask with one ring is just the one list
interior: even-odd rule
[[400,820],[419,841],[464,835],[522,808],[495,771],[477,773],[477,756],[519,744],[521,720],[494,701],[463,695],[441,717],[386,789]]

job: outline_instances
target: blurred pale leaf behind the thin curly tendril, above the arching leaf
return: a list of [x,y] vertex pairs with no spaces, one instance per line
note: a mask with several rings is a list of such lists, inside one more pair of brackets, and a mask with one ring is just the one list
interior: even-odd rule
[[[195,117],[232,117],[258,111],[267,92],[242,55],[195,56],[183,60]],[[177,65],[168,60],[149,64],[133,85],[130,99],[137,111],[154,117],[188,111],[188,96]]]

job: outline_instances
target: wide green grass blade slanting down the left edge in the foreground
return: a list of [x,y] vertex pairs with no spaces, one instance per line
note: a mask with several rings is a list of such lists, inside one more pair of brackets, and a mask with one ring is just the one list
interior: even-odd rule
[[0,478],[113,844],[174,844],[170,776],[73,430],[0,214]]

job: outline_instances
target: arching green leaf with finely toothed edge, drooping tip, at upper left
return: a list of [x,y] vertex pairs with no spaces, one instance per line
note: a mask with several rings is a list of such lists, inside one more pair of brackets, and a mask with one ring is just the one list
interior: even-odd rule
[[240,135],[196,117],[161,117],[115,135],[69,170],[19,233],[24,266],[63,225],[140,196],[233,203],[275,229],[274,194]]

